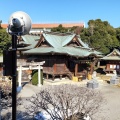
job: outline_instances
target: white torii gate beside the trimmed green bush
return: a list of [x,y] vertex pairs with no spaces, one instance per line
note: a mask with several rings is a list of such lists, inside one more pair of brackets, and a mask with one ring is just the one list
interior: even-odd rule
[[45,61],[42,62],[22,62],[17,64],[17,71],[18,71],[18,87],[21,87],[21,81],[22,81],[22,71],[23,70],[38,70],[38,87],[40,87],[41,84],[41,69],[43,69],[42,65],[45,63]]

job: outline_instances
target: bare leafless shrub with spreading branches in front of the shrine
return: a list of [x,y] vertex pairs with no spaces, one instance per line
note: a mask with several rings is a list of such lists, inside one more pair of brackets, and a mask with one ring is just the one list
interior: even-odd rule
[[42,88],[28,101],[30,104],[26,110],[31,116],[42,111],[49,115],[49,120],[80,120],[86,114],[93,116],[103,97],[97,90],[77,85],[59,85]]

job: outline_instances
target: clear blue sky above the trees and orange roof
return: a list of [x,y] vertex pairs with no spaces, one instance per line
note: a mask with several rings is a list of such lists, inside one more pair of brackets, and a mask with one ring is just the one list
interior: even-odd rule
[[120,27],[120,0],[0,0],[0,19],[7,23],[10,15],[24,11],[32,23],[108,21]]

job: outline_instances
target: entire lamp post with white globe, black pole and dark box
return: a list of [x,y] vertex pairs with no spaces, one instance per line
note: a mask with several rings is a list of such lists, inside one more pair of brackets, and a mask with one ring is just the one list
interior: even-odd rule
[[[16,120],[17,112],[17,38],[28,34],[31,29],[31,19],[25,12],[13,13],[8,21],[8,33],[12,36],[12,49],[6,50],[3,56],[3,74],[12,77],[12,120]],[[9,56],[10,59],[7,59]],[[11,62],[11,64],[8,64]]]

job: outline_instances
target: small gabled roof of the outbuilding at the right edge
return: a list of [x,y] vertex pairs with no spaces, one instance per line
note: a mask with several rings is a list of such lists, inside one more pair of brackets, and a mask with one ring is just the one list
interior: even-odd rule
[[118,49],[114,49],[111,53],[107,54],[102,60],[120,60],[120,51]]

